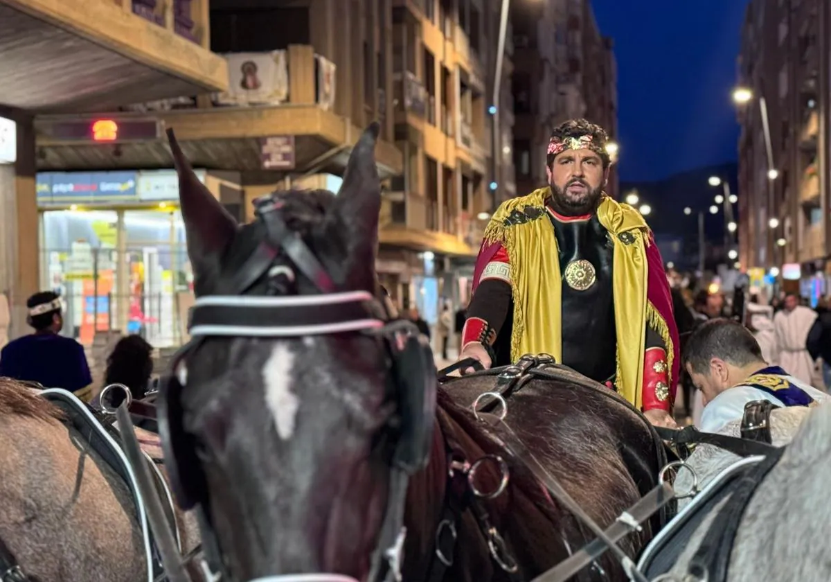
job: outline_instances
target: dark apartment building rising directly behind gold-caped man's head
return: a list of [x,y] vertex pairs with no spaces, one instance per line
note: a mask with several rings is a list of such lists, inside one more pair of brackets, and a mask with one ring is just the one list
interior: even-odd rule
[[[545,150],[563,121],[586,117],[617,135],[617,69],[589,0],[513,2],[517,190],[546,183]],[[617,172],[608,191],[617,195]]]

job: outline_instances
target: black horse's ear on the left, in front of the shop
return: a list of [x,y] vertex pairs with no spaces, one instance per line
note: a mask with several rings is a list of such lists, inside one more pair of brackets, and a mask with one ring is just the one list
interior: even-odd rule
[[179,174],[179,207],[187,237],[188,256],[194,269],[194,290],[199,294],[204,281],[216,274],[219,255],[234,239],[237,221],[199,181],[173,130],[167,131],[167,139]]

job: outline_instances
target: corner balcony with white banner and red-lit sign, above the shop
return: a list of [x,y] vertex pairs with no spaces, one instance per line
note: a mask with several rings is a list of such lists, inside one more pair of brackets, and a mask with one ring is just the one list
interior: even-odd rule
[[[362,127],[332,111],[332,62],[308,45],[229,55],[227,62],[229,89],[214,95],[213,104],[162,101],[137,111],[37,118],[38,168],[170,167],[164,134],[170,127],[196,167],[263,172],[263,180],[276,175],[275,181],[291,174],[342,174]],[[104,142],[92,131],[102,119],[119,130]],[[401,151],[388,141],[376,145],[376,160],[382,177],[403,171]]]

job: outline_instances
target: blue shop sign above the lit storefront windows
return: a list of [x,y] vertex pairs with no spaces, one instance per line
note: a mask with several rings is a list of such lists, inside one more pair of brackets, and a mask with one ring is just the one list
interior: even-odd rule
[[135,172],[39,172],[39,205],[107,204],[135,199]]

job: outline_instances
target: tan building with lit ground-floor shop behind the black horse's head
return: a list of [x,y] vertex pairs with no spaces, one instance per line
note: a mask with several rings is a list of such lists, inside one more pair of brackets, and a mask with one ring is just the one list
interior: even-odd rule
[[[155,2],[138,3],[155,22],[160,8],[145,6]],[[510,32],[494,81],[499,9],[484,0],[214,0],[199,31],[223,57],[224,86],[37,116],[41,286],[66,290],[79,313],[90,293],[112,298],[90,303],[100,328],[159,328],[165,313],[183,313],[191,278],[165,128],[226,208],[251,219],[253,200],[273,190],[337,191],[362,127],[380,121],[376,268],[402,308],[434,321],[441,298],[466,300],[486,217],[516,191]],[[91,284],[99,269],[112,279],[104,288]]]

